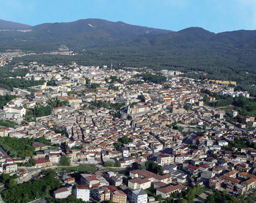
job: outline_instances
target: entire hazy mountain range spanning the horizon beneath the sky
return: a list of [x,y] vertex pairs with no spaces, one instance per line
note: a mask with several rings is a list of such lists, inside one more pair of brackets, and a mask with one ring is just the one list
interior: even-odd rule
[[[160,46],[170,48],[256,48],[256,31],[238,30],[214,34],[200,27],[177,32],[103,19],[80,19],[75,22],[43,23],[28,26],[0,20],[0,52],[22,51],[82,51],[88,48],[121,48]],[[29,32],[15,30],[29,29]]]

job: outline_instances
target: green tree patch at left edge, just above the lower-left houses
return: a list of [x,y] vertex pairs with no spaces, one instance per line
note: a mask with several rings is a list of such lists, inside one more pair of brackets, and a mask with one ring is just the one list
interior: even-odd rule
[[25,158],[26,156],[32,156],[35,149],[32,147],[34,139],[28,138],[11,138],[0,137],[0,146],[12,157],[18,155],[19,158]]

